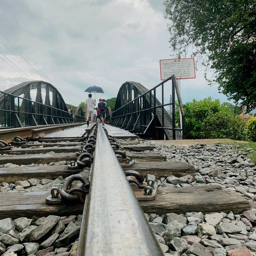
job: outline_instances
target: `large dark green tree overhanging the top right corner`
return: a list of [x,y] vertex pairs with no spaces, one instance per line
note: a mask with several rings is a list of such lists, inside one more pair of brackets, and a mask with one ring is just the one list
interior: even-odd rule
[[[165,0],[174,56],[209,68],[218,89],[248,110],[256,108],[256,0]],[[242,102],[241,102],[242,101]]]

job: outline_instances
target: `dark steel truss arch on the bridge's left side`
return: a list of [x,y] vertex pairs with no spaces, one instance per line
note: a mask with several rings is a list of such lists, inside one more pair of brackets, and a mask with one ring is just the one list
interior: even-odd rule
[[[46,90],[44,104],[42,88]],[[36,89],[35,102],[31,100],[30,94],[33,89]],[[52,104],[50,102],[50,92],[52,92]],[[24,96],[19,98],[22,94]],[[17,99],[18,106],[15,102]],[[22,103],[20,104],[21,101]],[[23,126],[23,124],[31,126],[71,122],[65,113],[68,112],[68,109],[60,92],[52,84],[41,80],[22,82],[0,93],[0,110],[8,111],[8,123],[15,127]],[[13,115],[10,114],[11,112]],[[0,111],[0,120],[3,120],[3,116],[6,119],[6,114],[4,113],[4,111]]]

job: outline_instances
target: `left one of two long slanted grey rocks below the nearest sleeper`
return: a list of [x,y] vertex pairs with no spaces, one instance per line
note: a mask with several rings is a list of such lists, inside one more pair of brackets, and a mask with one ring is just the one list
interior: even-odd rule
[[59,216],[49,215],[44,222],[33,230],[31,234],[31,241],[38,240],[46,235],[60,220]]

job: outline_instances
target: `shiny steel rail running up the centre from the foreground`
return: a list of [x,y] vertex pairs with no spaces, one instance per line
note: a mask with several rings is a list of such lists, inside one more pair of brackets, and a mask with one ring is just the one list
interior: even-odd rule
[[90,184],[76,256],[164,255],[100,124]]

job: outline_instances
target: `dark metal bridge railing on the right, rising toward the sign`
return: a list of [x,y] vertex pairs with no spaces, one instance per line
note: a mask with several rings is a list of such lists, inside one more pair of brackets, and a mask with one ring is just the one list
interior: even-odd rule
[[[164,86],[169,80],[172,80],[172,99],[171,102],[164,104]],[[170,86],[170,84],[167,84],[167,86]],[[161,102],[156,98],[157,88],[161,90]],[[180,124],[182,125],[180,128],[176,127],[175,92],[181,112]],[[170,106],[171,108],[171,122],[165,121],[165,116],[167,115],[166,106]],[[157,116],[158,118],[156,118]],[[151,135],[155,139],[159,137],[164,138],[164,131],[172,130],[172,139],[176,140],[176,131],[180,131],[182,139],[185,139],[185,114],[176,76],[170,76],[152,89],[144,92],[127,104],[124,104],[112,112],[111,115],[106,116],[106,122],[110,122],[113,126],[133,132],[139,130],[141,134],[147,134],[151,131]],[[160,133],[162,133],[162,135],[158,136]]]

